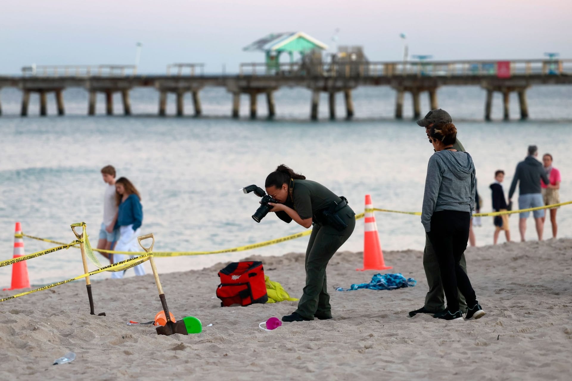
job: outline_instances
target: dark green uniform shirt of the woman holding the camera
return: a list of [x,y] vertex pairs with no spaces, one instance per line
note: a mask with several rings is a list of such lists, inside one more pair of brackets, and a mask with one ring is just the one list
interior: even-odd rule
[[312,218],[317,211],[339,203],[341,199],[325,186],[311,180],[294,181],[294,209],[301,219]]

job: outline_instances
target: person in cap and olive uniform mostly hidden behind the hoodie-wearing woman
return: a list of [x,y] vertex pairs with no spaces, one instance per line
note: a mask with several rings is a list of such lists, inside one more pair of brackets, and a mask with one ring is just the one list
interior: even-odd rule
[[[425,133],[428,136],[431,127],[440,121],[452,122],[451,115],[442,109],[431,110],[423,119],[417,121],[417,124],[425,127]],[[459,142],[459,139],[456,139],[453,148],[457,151],[465,151],[463,145]],[[464,254],[461,256],[460,266],[463,268],[464,272],[467,273],[467,261]],[[409,316],[411,318],[416,314],[435,314],[436,312],[440,312],[445,309],[445,294],[439,271],[439,263],[437,262],[435,250],[427,234],[425,235],[425,248],[423,250],[423,268],[425,270],[425,276],[427,277],[427,286],[429,286],[429,291],[425,296],[425,304],[423,307],[419,308],[419,310],[409,312]],[[458,296],[460,310],[464,313],[467,310],[467,303],[461,292],[458,293]]]

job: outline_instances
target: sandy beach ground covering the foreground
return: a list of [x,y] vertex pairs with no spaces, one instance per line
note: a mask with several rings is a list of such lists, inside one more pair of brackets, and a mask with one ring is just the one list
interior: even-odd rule
[[[337,254],[328,267],[335,318],[272,332],[258,323],[292,312],[296,302],[221,308],[215,290],[223,264],[161,275],[175,316],[202,320],[197,335],[158,336],[149,326],[125,324],[161,310],[151,275],[95,282],[96,312],[106,317],[89,315],[85,283],[65,284],[0,303],[0,379],[569,380],[571,248],[571,239],[561,239],[467,250],[487,311],[467,322],[407,318],[427,291],[419,251],[385,253],[391,271],[418,280],[394,291],[333,290],[375,274],[355,271],[360,253]],[[251,258],[299,296],[303,255]],[[161,259],[157,266],[161,271]],[[74,362],[51,366],[67,351],[76,352]]]

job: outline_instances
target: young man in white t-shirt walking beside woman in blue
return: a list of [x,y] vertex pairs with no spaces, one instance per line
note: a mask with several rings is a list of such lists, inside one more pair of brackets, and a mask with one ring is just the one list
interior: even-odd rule
[[[115,190],[115,168],[113,166],[105,166],[101,169],[101,175],[107,184],[104,194],[104,221],[101,223],[100,240],[97,242],[97,248],[112,250],[117,242],[118,229],[115,229],[117,220],[117,196]],[[101,255],[109,259],[113,264],[113,254],[101,252]]]

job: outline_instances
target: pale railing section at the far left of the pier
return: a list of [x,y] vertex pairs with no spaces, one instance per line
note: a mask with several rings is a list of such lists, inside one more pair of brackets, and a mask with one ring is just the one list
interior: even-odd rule
[[30,65],[22,67],[23,77],[132,77],[136,65]]

